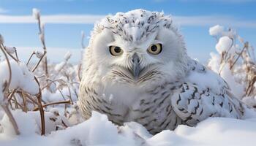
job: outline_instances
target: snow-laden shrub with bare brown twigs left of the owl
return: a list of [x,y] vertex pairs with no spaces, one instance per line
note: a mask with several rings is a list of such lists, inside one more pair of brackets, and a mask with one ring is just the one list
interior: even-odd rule
[[[69,63],[69,52],[60,64],[49,64],[39,10],[33,9],[33,15],[38,21],[43,51],[31,53],[26,63],[19,60],[15,47],[4,46],[0,35],[0,134],[22,134],[27,123],[20,117],[34,117],[36,128],[31,130],[38,134],[82,121],[76,106],[80,68]],[[31,58],[37,58],[37,62],[31,62]]]

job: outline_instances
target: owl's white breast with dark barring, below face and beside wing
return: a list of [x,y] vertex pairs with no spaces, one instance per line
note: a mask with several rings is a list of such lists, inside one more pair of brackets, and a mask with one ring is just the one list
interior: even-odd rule
[[[115,85],[80,85],[80,110],[83,117],[91,117],[91,111],[108,115],[109,120],[118,125],[135,121],[145,126],[151,134],[162,130],[173,130],[182,123],[170,104],[173,91],[179,82],[165,82],[155,85],[150,91],[140,88],[121,87]],[[152,90],[153,89],[153,90]],[[143,91],[143,93],[141,93]]]

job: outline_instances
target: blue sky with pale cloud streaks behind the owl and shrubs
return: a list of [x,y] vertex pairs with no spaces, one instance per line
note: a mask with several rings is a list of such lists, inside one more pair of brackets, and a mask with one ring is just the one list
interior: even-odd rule
[[20,48],[21,55],[40,49],[37,24],[31,17],[31,9],[40,9],[46,23],[46,45],[59,51],[50,59],[61,61],[62,53],[72,50],[72,61],[78,61],[80,31],[89,36],[99,18],[131,9],[163,10],[176,18],[189,55],[205,63],[216,44],[208,34],[210,26],[232,26],[256,46],[255,7],[256,0],[0,0],[0,34],[5,45]]

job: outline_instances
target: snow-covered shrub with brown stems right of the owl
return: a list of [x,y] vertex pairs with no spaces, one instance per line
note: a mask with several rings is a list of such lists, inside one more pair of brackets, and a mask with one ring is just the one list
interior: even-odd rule
[[244,42],[232,28],[213,26],[209,34],[217,39],[218,54],[210,54],[208,67],[225,79],[238,99],[256,106],[254,48],[249,42]]

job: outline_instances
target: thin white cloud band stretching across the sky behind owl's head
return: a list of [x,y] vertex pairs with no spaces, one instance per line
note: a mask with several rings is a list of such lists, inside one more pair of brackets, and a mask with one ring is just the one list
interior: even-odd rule
[[[94,24],[105,15],[42,15],[44,23]],[[180,26],[213,26],[216,24],[233,27],[256,28],[255,20],[243,20],[229,16],[173,16]],[[31,15],[0,15],[0,23],[36,23]]]

